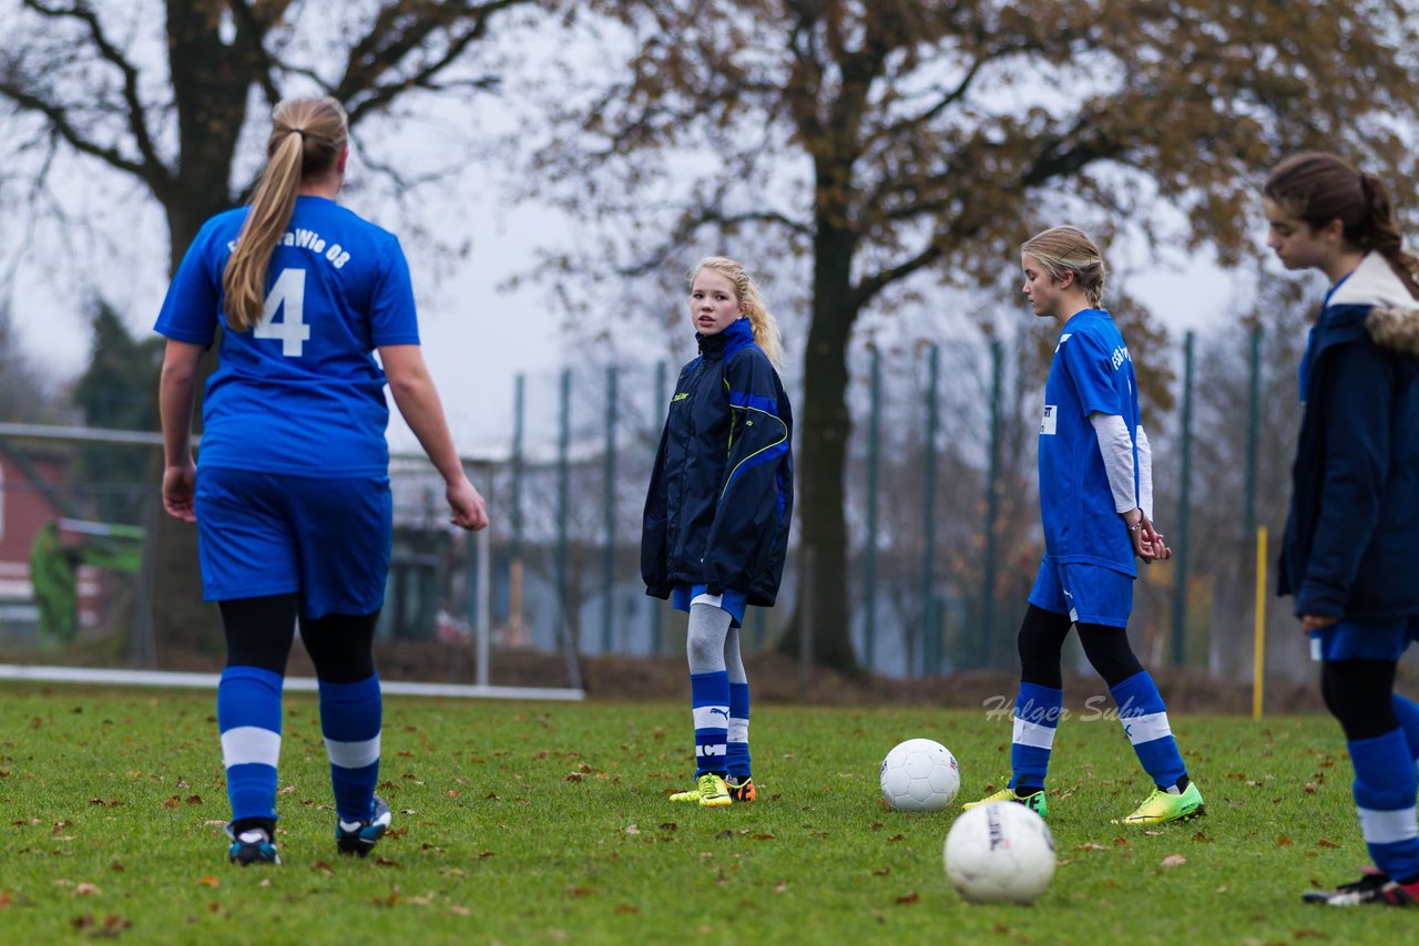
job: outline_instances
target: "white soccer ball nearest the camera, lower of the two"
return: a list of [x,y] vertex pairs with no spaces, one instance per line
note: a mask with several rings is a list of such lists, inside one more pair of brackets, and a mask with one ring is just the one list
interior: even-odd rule
[[992,801],[951,825],[946,877],[972,903],[1029,903],[1054,877],[1054,835],[1023,804]]

